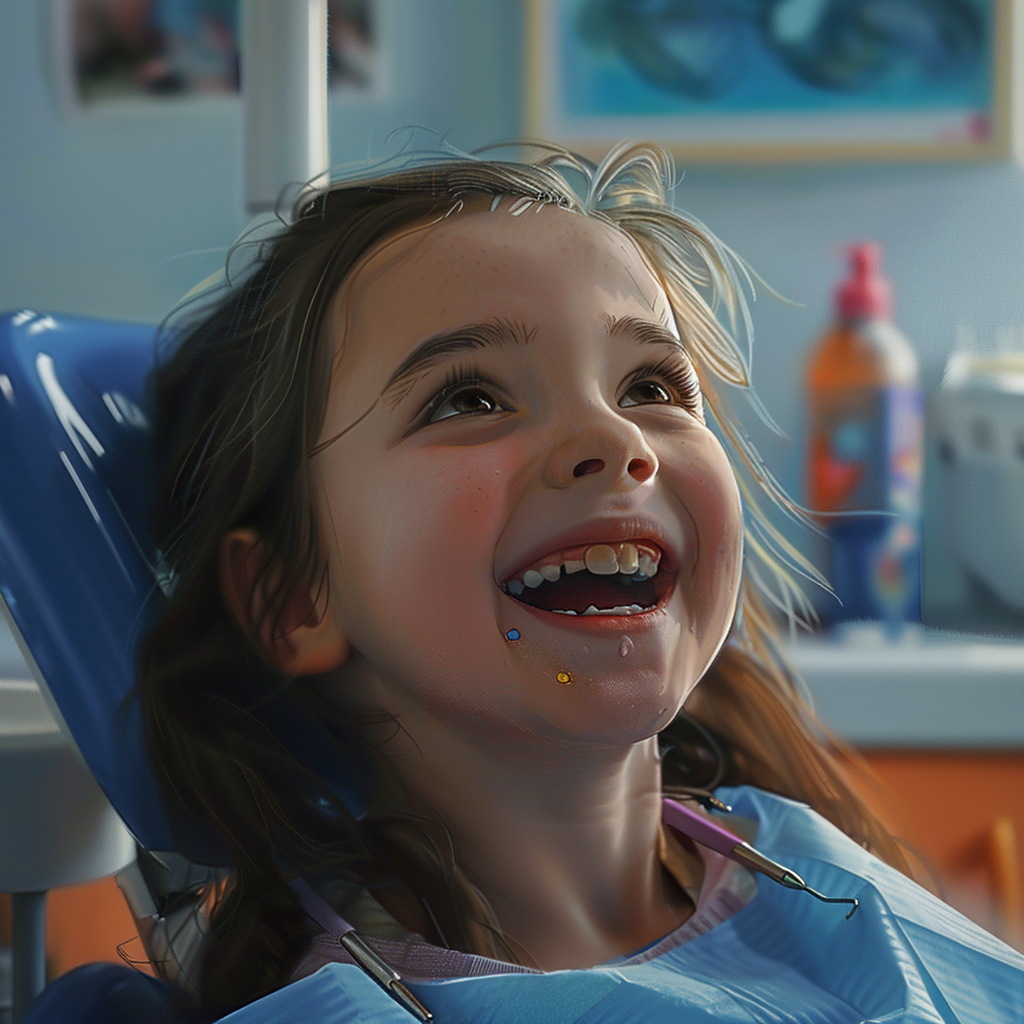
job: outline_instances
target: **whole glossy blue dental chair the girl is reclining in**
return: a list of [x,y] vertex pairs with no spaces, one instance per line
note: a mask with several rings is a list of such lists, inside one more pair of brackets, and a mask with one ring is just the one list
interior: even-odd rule
[[[222,878],[227,858],[199,820],[172,827],[132,699],[135,648],[168,585],[150,536],[157,467],[146,378],[157,357],[154,327],[32,310],[0,314],[0,610],[88,766],[79,774],[95,790],[91,773],[134,837],[137,861],[118,882],[135,918],[180,935],[174,915],[190,912],[180,898]],[[339,750],[333,733],[316,734],[285,702],[261,707],[276,738],[361,815],[372,775],[357,755]],[[0,708],[0,724],[2,715]],[[0,878],[2,831],[0,818]],[[109,853],[104,862],[113,866],[89,877],[126,863],[123,853],[114,856],[122,859]],[[201,938],[194,930],[186,951]],[[173,957],[187,981],[178,952],[168,946],[162,958]],[[16,975],[15,967],[15,982]],[[92,964],[56,979],[14,1024],[203,1020],[181,988]]]

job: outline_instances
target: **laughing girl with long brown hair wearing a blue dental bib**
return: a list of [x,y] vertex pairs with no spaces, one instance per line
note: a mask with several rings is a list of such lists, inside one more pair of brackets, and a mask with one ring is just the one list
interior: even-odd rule
[[[793,511],[720,390],[743,266],[672,173],[623,146],[335,185],[160,371],[174,589],[139,687],[182,843],[233,869],[207,1011],[1024,1017],[1020,957],[883,863],[778,654],[765,566],[791,614],[783,561],[812,570],[711,429]],[[719,820],[860,912],[663,823],[723,784]]]

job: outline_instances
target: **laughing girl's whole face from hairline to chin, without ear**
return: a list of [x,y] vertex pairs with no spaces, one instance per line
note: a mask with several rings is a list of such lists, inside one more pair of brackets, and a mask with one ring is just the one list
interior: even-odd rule
[[334,300],[328,614],[414,736],[629,743],[728,632],[739,495],[632,241],[525,206],[394,237]]

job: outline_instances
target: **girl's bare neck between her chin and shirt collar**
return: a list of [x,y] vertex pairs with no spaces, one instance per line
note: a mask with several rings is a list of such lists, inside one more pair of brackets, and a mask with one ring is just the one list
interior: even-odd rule
[[658,858],[655,737],[483,743],[443,721],[399,719],[388,760],[414,801],[440,815],[463,873],[537,966],[607,962],[692,912]]

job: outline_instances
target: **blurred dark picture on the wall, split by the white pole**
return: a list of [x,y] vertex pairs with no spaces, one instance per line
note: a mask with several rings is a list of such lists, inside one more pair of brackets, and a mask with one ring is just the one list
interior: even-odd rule
[[[377,95],[378,0],[328,0],[331,91]],[[239,91],[241,0],[53,0],[57,89],[124,110]]]

